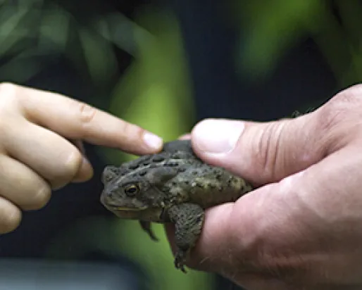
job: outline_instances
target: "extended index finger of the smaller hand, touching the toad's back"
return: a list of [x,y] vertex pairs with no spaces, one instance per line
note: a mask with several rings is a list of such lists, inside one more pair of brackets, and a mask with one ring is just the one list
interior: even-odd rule
[[[1,85],[4,92],[4,84]],[[146,154],[161,150],[162,139],[143,128],[75,99],[38,89],[6,84],[19,100],[25,118],[69,139]],[[6,91],[5,90],[5,91]]]

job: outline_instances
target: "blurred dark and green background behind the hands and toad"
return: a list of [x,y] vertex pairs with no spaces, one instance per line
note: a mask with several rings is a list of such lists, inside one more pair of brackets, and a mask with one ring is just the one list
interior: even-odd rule
[[[282,118],[359,82],[361,15],[361,1],[0,1],[0,80],[68,94],[172,140],[202,118]],[[96,185],[73,184],[26,214],[2,256],[72,260],[96,249],[137,263],[147,289],[227,285],[177,272],[160,225],[154,243],[101,209],[102,168],[135,156],[88,150]],[[88,211],[74,196],[83,191]]]

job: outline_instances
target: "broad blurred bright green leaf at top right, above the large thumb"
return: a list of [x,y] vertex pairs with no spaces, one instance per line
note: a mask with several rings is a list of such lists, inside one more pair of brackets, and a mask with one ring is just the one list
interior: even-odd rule
[[[263,2],[263,3],[261,3]],[[244,71],[253,75],[273,73],[280,58],[307,37],[308,23],[318,25],[318,0],[238,1],[239,20],[246,27],[239,48]],[[245,39],[246,38],[246,39]]]

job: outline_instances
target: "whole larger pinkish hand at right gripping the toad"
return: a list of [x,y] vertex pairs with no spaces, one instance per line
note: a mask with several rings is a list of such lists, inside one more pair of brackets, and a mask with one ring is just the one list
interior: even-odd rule
[[296,119],[203,120],[189,137],[258,187],[206,210],[189,267],[250,290],[362,289],[361,85]]

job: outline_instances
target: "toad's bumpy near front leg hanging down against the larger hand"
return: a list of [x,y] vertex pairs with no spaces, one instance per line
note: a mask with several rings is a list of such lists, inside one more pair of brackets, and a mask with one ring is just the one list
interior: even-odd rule
[[204,210],[194,203],[182,203],[169,208],[168,216],[175,224],[175,267],[186,272],[185,259],[201,234]]

